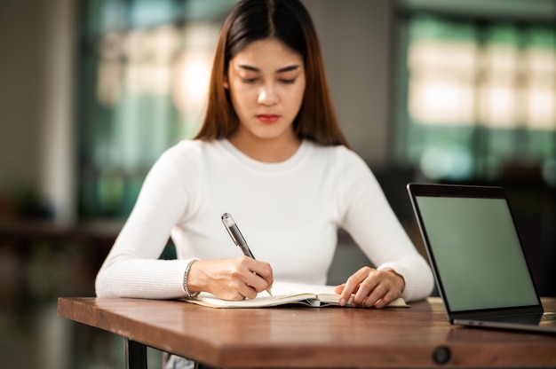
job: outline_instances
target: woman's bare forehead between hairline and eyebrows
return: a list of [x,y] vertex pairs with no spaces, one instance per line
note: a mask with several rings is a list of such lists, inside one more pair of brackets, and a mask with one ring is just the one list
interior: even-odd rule
[[274,71],[282,67],[303,67],[303,58],[285,43],[275,38],[254,41],[235,54],[230,63],[235,67],[245,65],[261,71]]

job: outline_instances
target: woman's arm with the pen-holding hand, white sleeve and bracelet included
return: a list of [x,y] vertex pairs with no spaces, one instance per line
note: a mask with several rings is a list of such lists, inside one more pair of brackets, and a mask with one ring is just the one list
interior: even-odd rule
[[[187,157],[187,153],[171,149],[149,171],[131,215],[97,275],[99,297],[170,299],[186,295],[184,274],[193,259],[158,260],[171,229],[195,214],[195,199],[200,197],[195,192],[197,169],[183,160],[184,155]],[[189,291],[209,291],[237,300],[254,297],[272,285],[270,265],[243,259],[249,258],[193,263],[187,275]]]

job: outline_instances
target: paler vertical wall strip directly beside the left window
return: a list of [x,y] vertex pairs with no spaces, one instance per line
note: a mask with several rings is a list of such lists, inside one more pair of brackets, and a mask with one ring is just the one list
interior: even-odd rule
[[56,220],[72,222],[75,209],[75,60],[77,8],[73,0],[49,0],[44,9],[44,88],[40,123],[40,192],[52,202]]

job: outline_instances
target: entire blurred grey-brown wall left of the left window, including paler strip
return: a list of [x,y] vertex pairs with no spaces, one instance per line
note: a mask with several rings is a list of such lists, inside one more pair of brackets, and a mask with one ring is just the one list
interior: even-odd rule
[[0,202],[33,188],[60,221],[75,217],[75,3],[22,0],[0,10]]

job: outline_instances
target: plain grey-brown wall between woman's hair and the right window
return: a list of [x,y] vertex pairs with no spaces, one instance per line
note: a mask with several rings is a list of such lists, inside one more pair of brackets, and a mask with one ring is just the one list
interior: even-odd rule
[[319,35],[338,118],[353,150],[388,161],[391,0],[303,0]]

